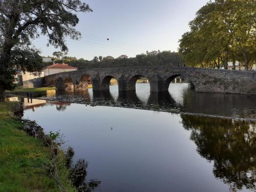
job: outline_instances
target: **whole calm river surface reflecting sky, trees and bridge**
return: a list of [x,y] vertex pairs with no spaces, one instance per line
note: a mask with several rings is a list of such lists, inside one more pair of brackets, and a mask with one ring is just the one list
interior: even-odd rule
[[255,118],[255,96],[195,93],[181,83],[162,95],[137,88],[25,99],[24,118],[65,136],[74,159],[89,162],[87,179],[101,181],[96,191],[256,190],[255,122],[149,110]]

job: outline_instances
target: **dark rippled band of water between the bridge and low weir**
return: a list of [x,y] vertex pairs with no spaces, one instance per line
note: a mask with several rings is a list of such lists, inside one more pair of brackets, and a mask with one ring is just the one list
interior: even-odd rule
[[[256,118],[256,97],[253,95],[226,95],[221,93],[197,93],[184,86],[174,86],[170,92],[127,91],[76,91],[57,92],[50,100],[84,103],[92,106],[117,106],[142,110],[159,110],[174,113],[197,113],[234,118]],[[140,84],[146,87],[146,84]],[[181,87],[181,88],[177,88]],[[140,88],[142,89],[142,87]],[[173,94],[179,93],[179,94]],[[137,95],[138,94],[138,95]],[[143,97],[141,97],[143,95]],[[139,97],[138,97],[139,96]]]

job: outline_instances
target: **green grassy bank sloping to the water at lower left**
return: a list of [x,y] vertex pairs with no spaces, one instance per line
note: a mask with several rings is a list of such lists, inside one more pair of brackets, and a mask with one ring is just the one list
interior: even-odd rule
[[[22,123],[12,115],[13,104],[0,102],[0,191],[59,191],[45,168],[51,158],[49,148],[18,130]],[[74,191],[64,163],[60,155],[59,180],[67,191]]]

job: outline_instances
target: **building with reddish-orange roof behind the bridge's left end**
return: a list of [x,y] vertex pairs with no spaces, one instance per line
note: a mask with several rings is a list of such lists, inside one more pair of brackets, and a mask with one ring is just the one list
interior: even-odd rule
[[53,65],[50,65],[44,68],[45,76],[52,75],[55,73],[68,72],[68,71],[77,71],[77,68],[73,66],[69,66],[69,64],[66,64],[66,63],[62,63],[62,64],[54,63]]

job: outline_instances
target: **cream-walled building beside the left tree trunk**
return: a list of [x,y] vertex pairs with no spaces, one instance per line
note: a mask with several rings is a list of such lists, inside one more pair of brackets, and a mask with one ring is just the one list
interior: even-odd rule
[[42,79],[40,77],[44,77],[44,71],[41,72],[40,76],[20,71],[16,73],[17,80],[15,83],[23,88],[38,88],[41,87],[42,83]]

